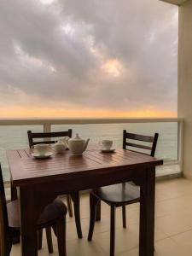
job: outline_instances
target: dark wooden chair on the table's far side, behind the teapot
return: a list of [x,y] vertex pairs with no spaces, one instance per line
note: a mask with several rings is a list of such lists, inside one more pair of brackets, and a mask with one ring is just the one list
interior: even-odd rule
[[[55,132],[27,131],[27,135],[28,135],[29,147],[32,148],[32,146],[37,145],[39,143],[46,143],[46,144],[56,143],[58,137],[72,137],[72,129],[68,129],[68,131],[55,131]],[[55,140],[53,138],[55,138]],[[43,140],[40,140],[40,139],[43,139]],[[80,223],[79,191],[73,192],[73,194],[71,195],[67,195],[67,208],[68,208],[70,217],[73,217],[72,201],[74,206],[74,217],[75,217],[78,237],[82,238],[83,235],[82,235],[81,223]]]

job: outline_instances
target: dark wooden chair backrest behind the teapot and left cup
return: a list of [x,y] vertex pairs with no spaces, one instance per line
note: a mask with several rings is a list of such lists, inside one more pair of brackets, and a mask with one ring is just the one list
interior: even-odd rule
[[29,141],[29,147],[32,148],[33,145],[39,144],[39,143],[45,143],[45,144],[51,144],[55,143],[53,140],[40,140],[38,142],[35,142],[33,139],[39,138],[53,138],[53,137],[72,137],[72,129],[68,129],[68,131],[55,131],[55,132],[32,132],[27,131],[28,134],[28,141]]

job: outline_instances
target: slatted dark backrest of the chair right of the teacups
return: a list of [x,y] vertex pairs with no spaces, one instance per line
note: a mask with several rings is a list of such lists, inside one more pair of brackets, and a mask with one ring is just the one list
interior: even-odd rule
[[[153,136],[145,136],[145,135],[140,135],[135,133],[129,133],[126,130],[124,130],[123,131],[123,148],[124,149],[129,149],[127,147],[142,148],[148,151],[149,155],[154,156],[158,137],[159,137],[158,133],[154,133],[154,137],[153,137]],[[128,141],[129,139],[131,140],[131,142]],[[149,145],[142,144],[142,143],[135,143],[132,141],[148,143]],[[133,151],[137,152],[137,150],[133,150]]]

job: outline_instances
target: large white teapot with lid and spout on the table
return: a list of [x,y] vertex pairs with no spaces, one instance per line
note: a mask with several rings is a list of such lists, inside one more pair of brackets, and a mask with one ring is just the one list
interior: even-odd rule
[[84,140],[79,137],[79,134],[76,134],[76,137],[70,138],[67,141],[68,148],[71,150],[73,154],[80,155],[86,150],[87,145],[90,139]]

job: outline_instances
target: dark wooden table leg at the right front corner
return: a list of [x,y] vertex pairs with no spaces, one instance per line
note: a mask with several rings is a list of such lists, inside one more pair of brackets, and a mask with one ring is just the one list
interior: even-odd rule
[[139,256],[154,256],[155,167],[143,173],[140,195]]

